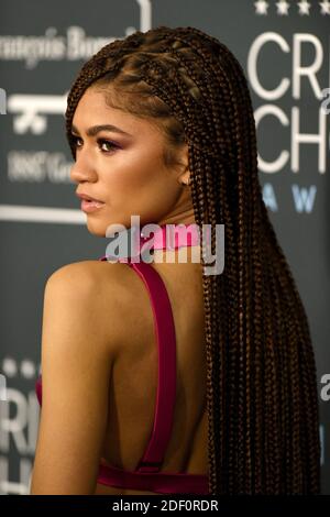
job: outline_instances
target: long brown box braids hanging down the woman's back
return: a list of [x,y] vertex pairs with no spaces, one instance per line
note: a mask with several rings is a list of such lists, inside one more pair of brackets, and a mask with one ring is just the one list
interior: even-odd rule
[[[164,133],[166,164],[188,144],[201,231],[224,224],[226,265],[202,275],[209,492],[320,491],[316,364],[307,316],[257,177],[255,123],[243,70],[202,31],[161,25],[103,46],[67,99],[66,133],[88,87]],[[200,256],[204,264],[204,257]]]

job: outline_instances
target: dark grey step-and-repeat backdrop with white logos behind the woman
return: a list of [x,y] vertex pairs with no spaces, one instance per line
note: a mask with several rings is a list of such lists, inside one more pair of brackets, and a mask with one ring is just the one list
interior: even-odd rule
[[[28,494],[43,293],[64,264],[97,260],[70,183],[70,85],[101,46],[160,24],[218,37],[253,100],[263,197],[305,304],[317,356],[322,493],[330,494],[330,2],[2,0],[0,4],[0,493]],[[328,201],[328,202],[327,202]]]

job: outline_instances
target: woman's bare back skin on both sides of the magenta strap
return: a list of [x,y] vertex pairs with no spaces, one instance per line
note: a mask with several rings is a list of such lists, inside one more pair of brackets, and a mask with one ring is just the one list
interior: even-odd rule
[[[178,252],[170,253],[177,261]],[[177,351],[174,424],[161,472],[208,474],[201,265],[164,262],[152,263],[151,266],[161,275],[167,289]],[[155,320],[146,286],[128,265],[121,272],[125,272],[123,280],[127,284],[122,311],[127,337],[112,370],[102,463],[109,462],[112,466],[134,470],[153,428],[158,352]],[[107,274],[106,271],[105,273]],[[105,297],[107,296],[113,296],[113,287],[110,285],[109,289],[105,289]],[[155,493],[97,484],[96,494]]]

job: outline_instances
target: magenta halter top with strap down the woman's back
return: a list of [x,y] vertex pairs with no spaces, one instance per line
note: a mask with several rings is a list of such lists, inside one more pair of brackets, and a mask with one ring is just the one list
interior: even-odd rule
[[[174,237],[174,246],[169,246],[169,249],[199,244],[199,231],[196,224],[176,226]],[[145,237],[141,232],[139,255],[150,239],[153,239],[153,249],[165,249],[168,244],[166,227],[160,227],[153,237]],[[106,261],[107,255],[99,260]],[[158,348],[156,409],[152,435],[135,470],[127,471],[108,463],[101,463],[97,482],[119,488],[150,491],[160,494],[208,494],[208,475],[160,472],[172,433],[176,396],[176,339],[173,312],[165,284],[155,268],[143,261],[132,262],[131,256],[120,258],[119,262],[127,263],[136,272],[144,282],[151,298]],[[42,405],[41,376],[36,382],[36,395],[40,405]]]

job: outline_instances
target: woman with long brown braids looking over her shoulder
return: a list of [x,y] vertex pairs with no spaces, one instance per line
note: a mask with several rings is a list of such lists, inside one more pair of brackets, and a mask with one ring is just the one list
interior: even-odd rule
[[[117,129],[90,129],[105,124]],[[86,261],[50,277],[31,493],[319,493],[309,327],[262,199],[253,109],[234,56],[189,26],[114,41],[77,76],[66,131],[77,194],[94,198],[82,205],[91,233],[130,228],[131,215],[161,231],[210,224],[212,237],[222,223],[226,265],[204,274],[202,246],[187,244],[199,263],[189,253],[177,263],[177,249],[162,262],[155,249],[161,261],[147,266],[164,283],[155,298],[168,294],[177,385],[165,455],[144,474],[136,465],[153,430],[162,317],[128,264]],[[170,473],[166,488],[158,481]]]

